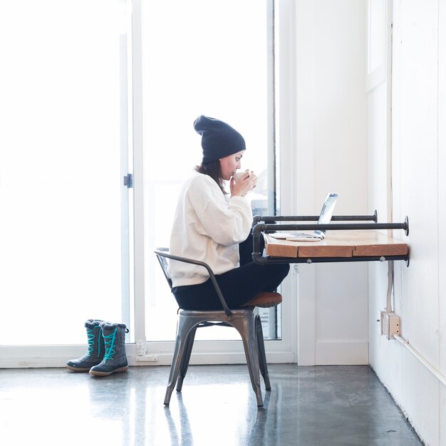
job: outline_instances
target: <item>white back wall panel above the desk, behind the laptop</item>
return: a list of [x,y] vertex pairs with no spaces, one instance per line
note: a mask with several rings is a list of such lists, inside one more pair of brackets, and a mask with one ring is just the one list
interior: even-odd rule
[[367,213],[365,2],[316,1],[315,16],[315,210],[332,191],[337,213]]

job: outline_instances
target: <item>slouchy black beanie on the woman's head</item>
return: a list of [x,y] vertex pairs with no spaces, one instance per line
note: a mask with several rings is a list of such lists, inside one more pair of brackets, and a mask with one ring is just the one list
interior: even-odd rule
[[202,135],[202,164],[217,161],[247,148],[243,136],[221,120],[201,115],[195,120],[194,128]]

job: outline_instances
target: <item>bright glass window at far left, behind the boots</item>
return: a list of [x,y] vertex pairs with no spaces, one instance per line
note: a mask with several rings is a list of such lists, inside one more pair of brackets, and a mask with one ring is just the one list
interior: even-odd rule
[[0,344],[123,319],[123,5],[1,2]]

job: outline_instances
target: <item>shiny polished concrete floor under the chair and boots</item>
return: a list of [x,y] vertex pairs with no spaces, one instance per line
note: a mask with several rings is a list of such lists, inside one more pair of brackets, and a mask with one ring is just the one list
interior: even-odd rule
[[0,445],[422,445],[367,366],[271,364],[263,408],[246,365],[190,366],[165,408],[168,375],[0,370]]

